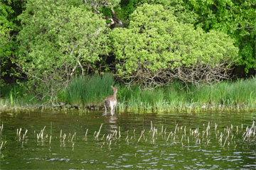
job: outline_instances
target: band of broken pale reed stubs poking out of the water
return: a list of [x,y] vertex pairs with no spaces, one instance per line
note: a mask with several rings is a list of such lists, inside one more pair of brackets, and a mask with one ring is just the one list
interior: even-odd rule
[[[3,125],[1,125],[1,130]],[[236,147],[242,147],[243,145],[255,145],[256,144],[256,126],[255,121],[252,121],[251,125],[227,125],[226,127],[220,127],[218,124],[203,124],[198,128],[189,128],[183,125],[175,125],[175,128],[154,126],[151,121],[150,127],[147,129],[134,129],[123,131],[122,127],[113,129],[111,132],[104,130],[104,124],[100,125],[98,131],[94,133],[91,130],[85,130],[85,137],[82,134],[65,133],[60,130],[60,135],[48,135],[47,127],[44,126],[39,133],[34,134],[28,132],[28,130],[17,129],[16,141],[21,142],[21,147],[26,147],[28,140],[36,142],[41,145],[49,145],[54,142],[55,146],[60,143],[60,147],[71,147],[75,149],[75,143],[82,141],[90,141],[97,143],[100,148],[107,147],[112,149],[117,145],[166,145],[174,147],[220,147],[235,149]],[[92,135],[93,134],[93,135]],[[34,137],[28,137],[34,136]],[[34,140],[33,140],[34,138]],[[90,138],[90,140],[88,140]],[[7,141],[1,141],[0,152],[5,148]],[[83,142],[82,142],[83,143]]]

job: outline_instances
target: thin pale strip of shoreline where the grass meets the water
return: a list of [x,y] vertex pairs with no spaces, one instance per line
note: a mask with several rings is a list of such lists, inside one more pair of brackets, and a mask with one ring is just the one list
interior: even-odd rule
[[[100,104],[97,105],[87,105],[87,106],[71,106],[69,104],[62,106],[0,106],[0,112],[2,111],[102,111],[104,112],[104,107]],[[202,112],[218,112],[218,113],[227,113],[227,112],[236,112],[236,113],[244,113],[244,112],[256,112],[256,108],[247,107],[246,106],[224,106],[219,105],[215,106],[186,106],[185,104],[182,107],[173,107],[166,106],[163,108],[156,108],[154,106],[150,106],[147,104],[147,108],[140,106],[134,108],[132,106],[120,106],[118,105],[116,108],[116,113],[202,113]]]

